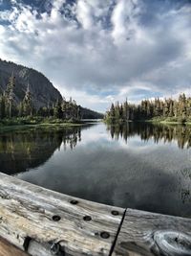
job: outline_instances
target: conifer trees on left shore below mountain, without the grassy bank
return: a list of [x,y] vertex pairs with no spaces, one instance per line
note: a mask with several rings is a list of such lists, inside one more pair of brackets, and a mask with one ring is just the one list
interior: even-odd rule
[[15,77],[13,74],[9,79],[6,90],[0,95],[0,118],[12,118],[12,117],[53,117],[55,119],[64,120],[80,120],[80,105],[76,105],[75,101],[70,99],[57,100],[53,105],[47,103],[47,106],[36,109],[32,105],[32,94],[30,92],[30,84],[27,86],[23,101],[16,104],[16,98],[14,95]]

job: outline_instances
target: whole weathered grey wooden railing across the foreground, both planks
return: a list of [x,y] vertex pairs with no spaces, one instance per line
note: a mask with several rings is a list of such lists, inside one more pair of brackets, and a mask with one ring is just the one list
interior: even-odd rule
[[190,219],[72,198],[1,173],[0,237],[0,256],[191,255]]

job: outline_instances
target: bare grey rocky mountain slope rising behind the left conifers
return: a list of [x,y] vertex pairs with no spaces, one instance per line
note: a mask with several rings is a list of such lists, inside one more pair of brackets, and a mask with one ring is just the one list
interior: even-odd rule
[[2,93],[11,77],[15,77],[14,99],[17,103],[21,102],[25,96],[28,83],[32,93],[32,105],[35,108],[52,105],[57,100],[61,100],[60,92],[53,87],[42,73],[22,65],[17,65],[11,61],[5,61],[0,58],[0,93]]

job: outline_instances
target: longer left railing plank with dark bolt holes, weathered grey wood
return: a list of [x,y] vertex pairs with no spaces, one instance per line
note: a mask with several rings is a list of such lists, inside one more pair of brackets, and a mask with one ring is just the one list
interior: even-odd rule
[[109,255],[123,212],[0,174],[0,236],[35,256]]

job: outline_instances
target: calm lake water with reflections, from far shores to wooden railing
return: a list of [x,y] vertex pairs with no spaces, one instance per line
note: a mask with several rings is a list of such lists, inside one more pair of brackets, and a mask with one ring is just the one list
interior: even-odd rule
[[191,127],[130,123],[0,134],[1,172],[78,198],[191,217]]

